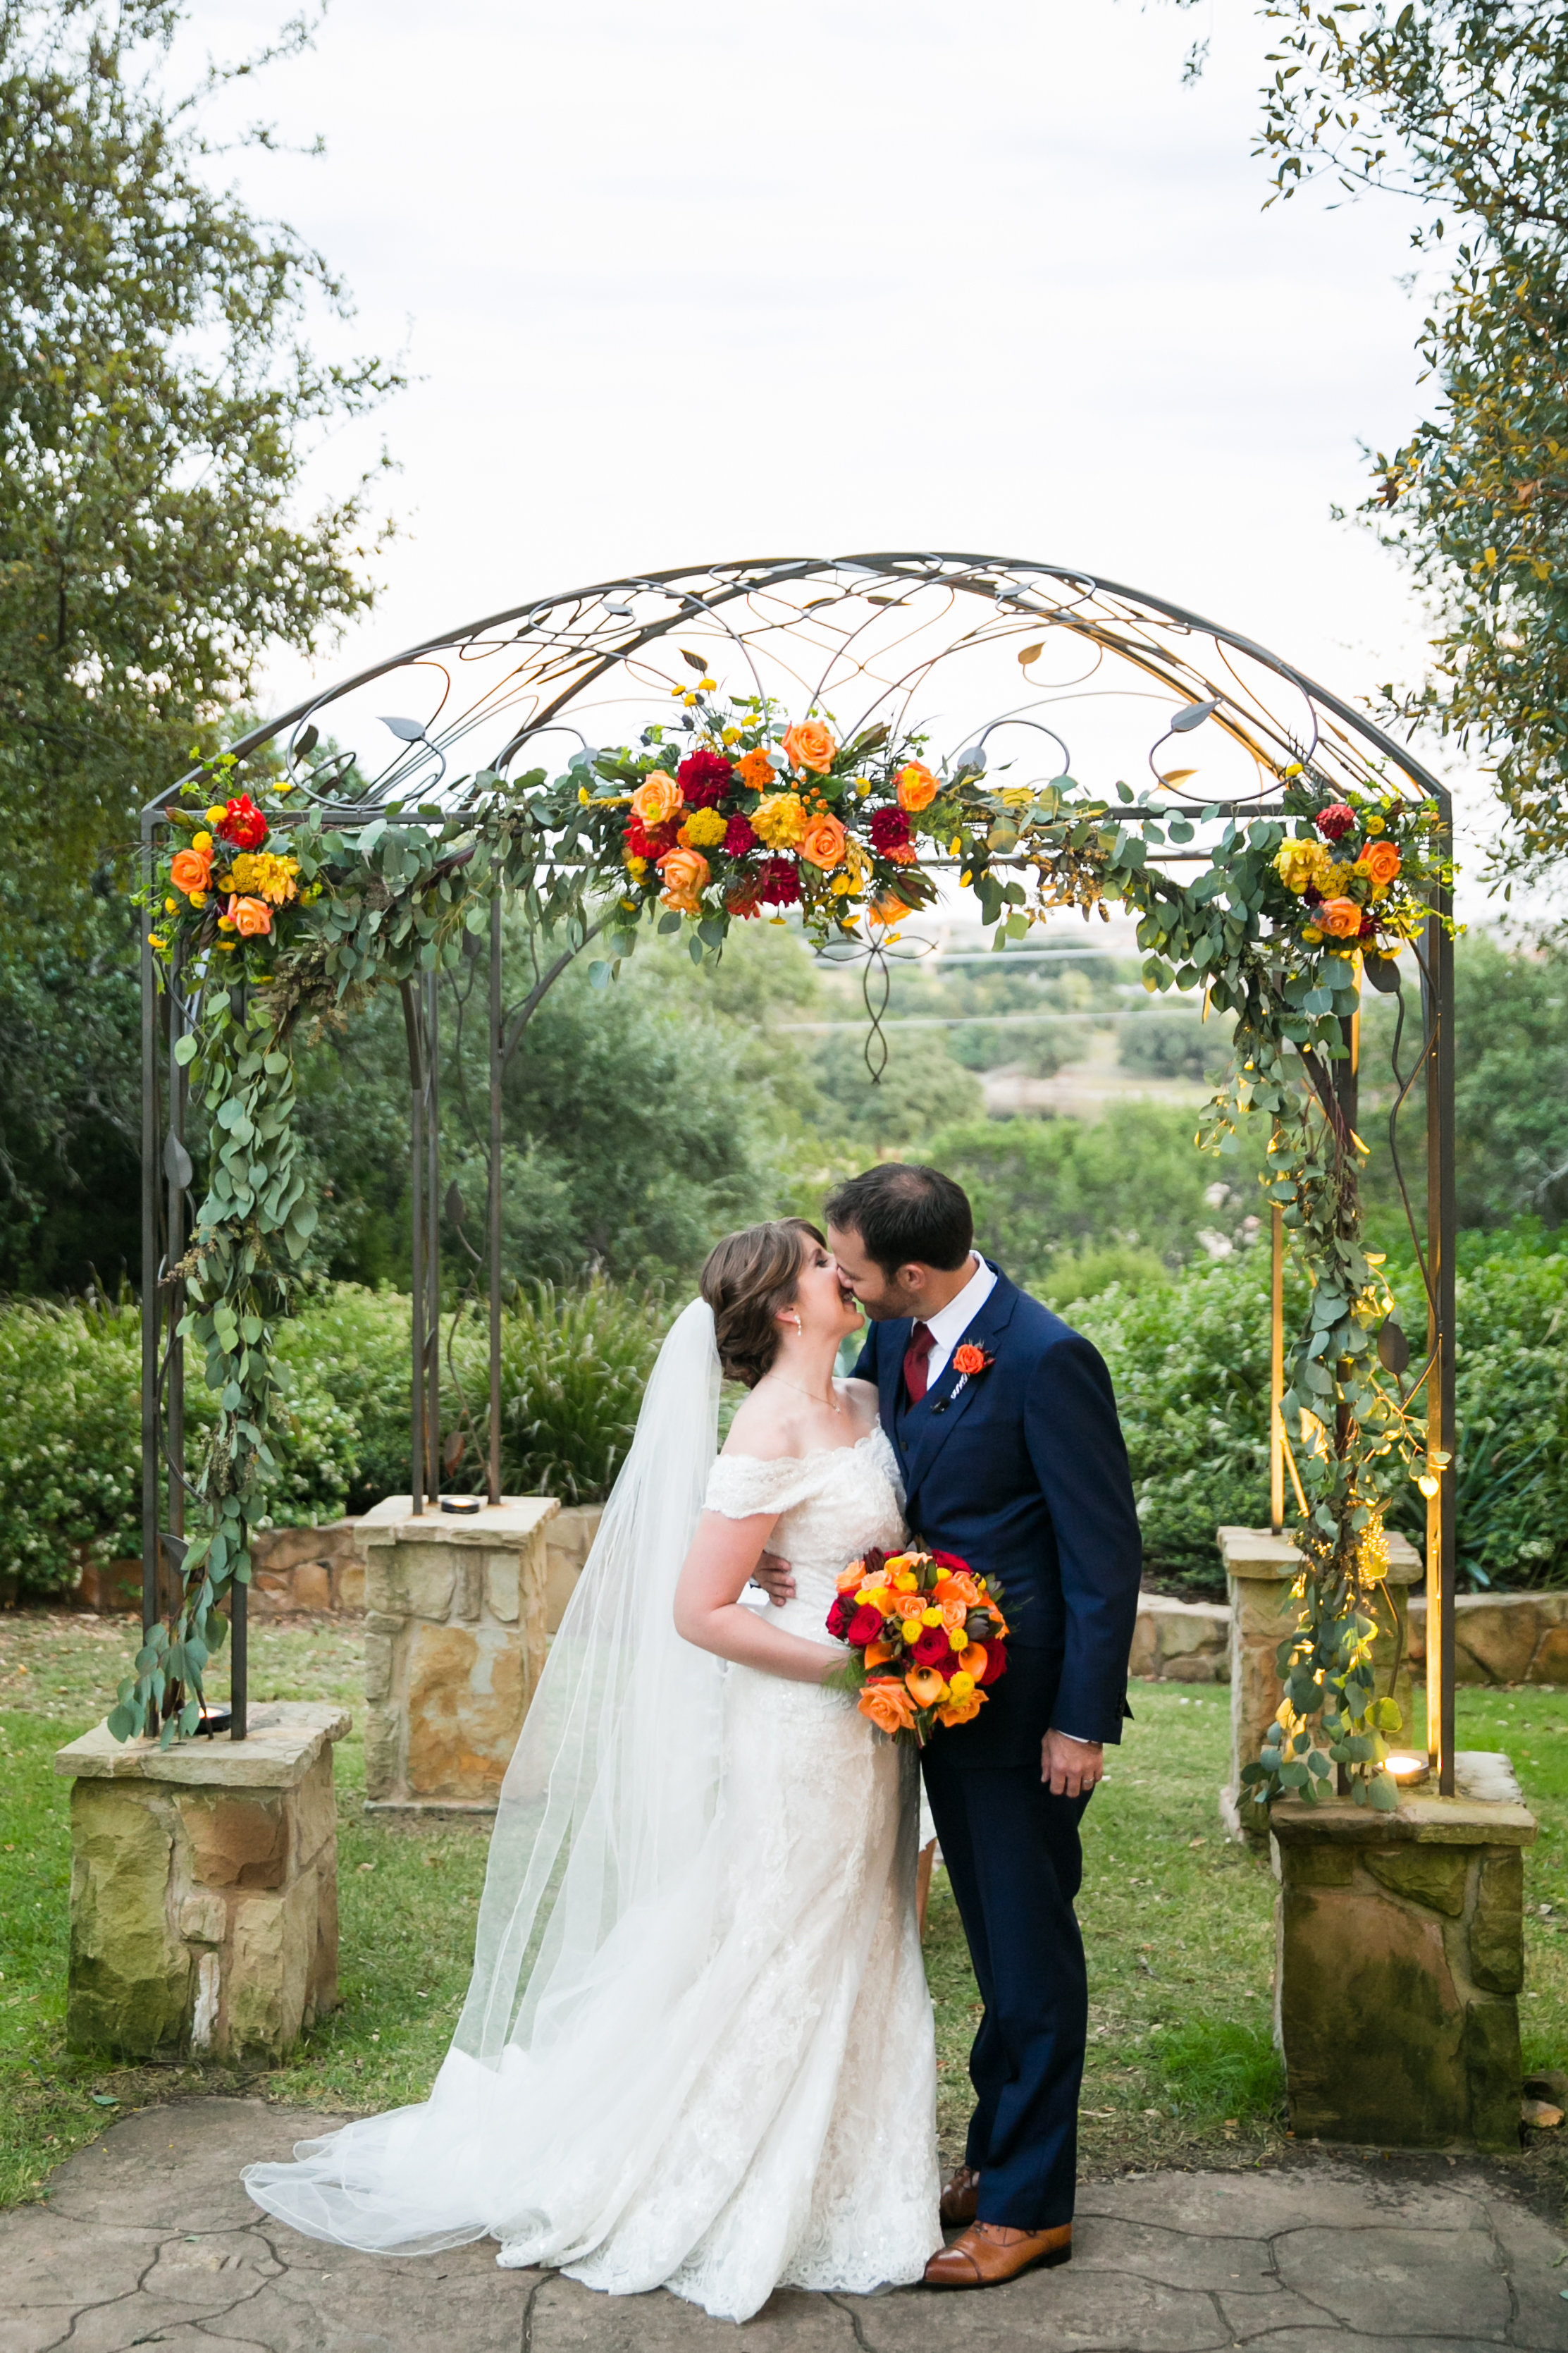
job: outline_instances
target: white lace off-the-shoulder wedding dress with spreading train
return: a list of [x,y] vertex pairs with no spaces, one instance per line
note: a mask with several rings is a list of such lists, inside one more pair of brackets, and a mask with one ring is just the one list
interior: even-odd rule
[[[717,1402],[717,1374],[712,1393]],[[637,1447],[628,1475],[635,1461]],[[696,1497],[710,1511],[778,1513],[771,1541],[795,1567],[797,1598],[769,1617],[813,1640],[827,1640],[844,1562],[903,1537],[882,1431],[790,1461],[715,1461],[708,1447],[705,1475]],[[639,1591],[658,1584],[646,1562],[637,1579]],[[522,1777],[536,1814],[564,1758],[581,1781],[569,1861],[531,1833],[531,1868],[555,1889],[543,1939],[520,1897],[522,1864],[505,1871],[491,1849],[484,1911],[501,1918],[487,1941],[482,1915],[477,1991],[430,2101],[303,2141],[294,2165],[247,2167],[249,2193],[315,2238],[407,2254],[491,2235],[503,2266],[555,2266],[611,2294],[668,2287],[726,2320],[750,2318],[780,2285],[865,2292],[917,2280],[943,2233],[936,2047],[914,1925],[914,1755],[879,1739],[839,1692],[670,1654],[670,1673],[691,1678],[686,1739],[668,1725],[677,1699],[665,1689],[672,1779],[649,1819],[628,1755],[607,1760],[602,1711],[621,1739],[618,1701],[635,1711],[632,1659],[651,1661],[661,1638],[649,1621],[625,1645],[618,1682],[604,1595],[597,1607],[590,1765],[557,1729],[548,1772],[534,1760]],[[571,1612],[557,1649],[569,1635]],[[552,1652],[545,1673],[555,1666]],[[703,1751],[710,1697],[715,1786],[703,1793],[701,1774],[682,1788],[682,1772]],[[529,1722],[538,1713],[536,1699]],[[527,1741],[529,1727],[520,1758]],[[621,1833],[607,1833],[616,1821]],[[527,1934],[534,1958],[515,1955],[527,1988],[512,2019],[496,1955]],[[487,2042],[491,2017],[503,2040]]]

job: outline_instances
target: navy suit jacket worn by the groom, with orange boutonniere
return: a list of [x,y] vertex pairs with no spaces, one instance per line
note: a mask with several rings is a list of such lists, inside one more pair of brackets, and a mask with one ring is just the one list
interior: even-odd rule
[[[990,1261],[987,1261],[990,1264]],[[994,1577],[1018,1657],[961,1737],[980,1762],[1013,1673],[1060,1732],[1119,1741],[1138,1619],[1143,1539],[1117,1400],[1098,1348],[1004,1273],[964,1334],[992,1365],[959,1381],[947,1360],[919,1405],[903,1386],[912,1322],[870,1327],[856,1379],[875,1381],[905,1482],[910,1529]],[[961,1344],[959,1344],[961,1346]],[[1027,1668],[1027,1673],[1020,1673]],[[1037,1713],[1034,1708],[1030,1713]],[[1018,1727],[1023,1732],[1023,1725]],[[1037,1727],[1030,1727],[1034,1734]],[[1041,1727],[1044,1729],[1044,1727]]]

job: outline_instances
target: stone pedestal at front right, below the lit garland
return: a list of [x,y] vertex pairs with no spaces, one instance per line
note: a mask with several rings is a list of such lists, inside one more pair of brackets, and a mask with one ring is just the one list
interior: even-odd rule
[[1274,1805],[1274,2000],[1298,2139],[1519,2148],[1533,1838],[1535,1817],[1507,1800]]

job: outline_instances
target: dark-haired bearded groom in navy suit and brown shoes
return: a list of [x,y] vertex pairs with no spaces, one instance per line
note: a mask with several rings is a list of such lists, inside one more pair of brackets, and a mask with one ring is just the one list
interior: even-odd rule
[[[1072,1911],[1079,1819],[1121,1739],[1143,1546],[1095,1348],[973,1252],[969,1198],[886,1162],[827,1200],[839,1275],[870,1318],[875,1381],[912,1534],[1001,1588],[1009,1668],[922,1762],[985,2012],[966,2162],[943,2191],[961,2238],[929,2287],[992,2287],[1072,2252],[1088,2033]],[[980,1369],[954,1367],[959,1346]],[[764,1565],[766,1567],[766,1565]],[[778,1572],[762,1579],[788,1598]]]

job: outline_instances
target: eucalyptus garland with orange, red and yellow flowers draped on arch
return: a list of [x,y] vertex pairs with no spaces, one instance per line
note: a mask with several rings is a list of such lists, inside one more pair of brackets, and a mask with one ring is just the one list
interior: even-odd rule
[[[275,1473],[268,1431],[282,1400],[273,1334],[289,1313],[315,1226],[294,1151],[294,1040],[301,1019],[341,1019],[364,993],[461,955],[496,892],[567,955],[599,936],[609,984],[639,925],[682,932],[696,962],[731,922],[799,908],[806,934],[872,951],[933,896],[926,856],[959,866],[994,944],[1063,906],[1138,915],[1150,991],[1197,991],[1234,1021],[1227,1082],[1201,1141],[1237,1151],[1244,1115],[1272,1127],[1267,1191],[1312,1280],[1295,1337],[1286,1431],[1300,1482],[1302,1624],[1284,1645],[1286,1708],[1248,1786],[1328,1795],[1345,1767],[1366,1802],[1394,1802],[1382,1772],[1392,1701],[1373,1692],[1371,1645],[1394,1485],[1434,1475],[1396,1374],[1378,1360],[1392,1308],[1361,1247],[1356,1169],[1333,1068],[1361,972],[1396,986],[1429,896],[1448,887],[1436,802],[1396,784],[1331,798],[1312,774],[1281,776],[1286,816],[1241,824],[1220,807],[1180,814],[1168,793],[1117,800],[1072,776],[1044,788],[987,774],[983,748],[926,765],[919,736],[879,727],[842,741],[825,713],[790,720],[762,696],[724,699],[696,656],[675,727],[637,748],[581,748],[564,774],[482,772],[444,798],[353,812],[292,807],[289,784],[235,793],[212,762],[165,814],[172,842],[143,889],[153,951],[195,1007],[176,1045],[209,1118],[209,1186],[174,1278],[181,1334],[205,1351],[219,1421],[193,1478],[202,1522],[183,1600],[120,1685],[110,1729],[188,1737],[221,1605],[249,1581],[252,1534]],[[1208,706],[1194,706],[1199,720]],[[1006,779],[1006,769],[1001,769]],[[1222,824],[1208,864],[1178,880],[1150,852]]]

